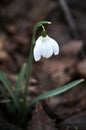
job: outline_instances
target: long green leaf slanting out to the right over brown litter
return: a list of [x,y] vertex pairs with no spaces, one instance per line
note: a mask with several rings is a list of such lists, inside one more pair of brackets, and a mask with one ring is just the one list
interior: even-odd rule
[[80,80],[76,80],[73,81],[71,83],[68,83],[67,85],[64,85],[62,87],[59,87],[57,89],[45,92],[44,94],[41,94],[40,96],[36,97],[35,99],[33,99],[29,105],[29,107],[33,106],[37,101],[52,97],[52,96],[56,96],[59,95],[67,90],[69,90],[70,88],[73,88],[74,86],[80,84],[81,82],[83,82],[84,79],[80,79]]

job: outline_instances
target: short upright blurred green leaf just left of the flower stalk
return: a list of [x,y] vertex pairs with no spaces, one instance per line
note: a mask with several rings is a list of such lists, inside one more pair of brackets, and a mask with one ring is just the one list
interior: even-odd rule
[[20,87],[21,87],[22,81],[23,81],[24,76],[25,76],[25,71],[26,71],[26,64],[23,64],[22,68],[20,70],[19,76],[18,76],[18,80],[16,82],[16,92],[15,92],[15,95],[16,95],[17,99],[18,99],[19,94],[20,94]]

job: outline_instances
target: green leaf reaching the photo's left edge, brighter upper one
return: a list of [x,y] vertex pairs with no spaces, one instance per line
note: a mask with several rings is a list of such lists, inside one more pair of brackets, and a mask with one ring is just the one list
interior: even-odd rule
[[9,91],[10,96],[12,97],[12,100],[16,106],[17,109],[19,109],[19,103],[16,99],[16,96],[14,94],[14,91],[12,89],[12,86],[10,84],[10,82],[8,81],[8,79],[6,78],[6,76],[4,75],[3,72],[0,71],[0,80],[2,81],[2,83],[5,85],[5,88]]

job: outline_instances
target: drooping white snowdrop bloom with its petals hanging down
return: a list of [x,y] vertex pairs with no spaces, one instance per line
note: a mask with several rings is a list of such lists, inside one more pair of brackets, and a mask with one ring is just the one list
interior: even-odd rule
[[51,57],[53,54],[57,55],[59,53],[58,43],[46,35],[46,37],[40,36],[35,43],[34,47],[34,59],[39,61],[41,56],[45,58]]

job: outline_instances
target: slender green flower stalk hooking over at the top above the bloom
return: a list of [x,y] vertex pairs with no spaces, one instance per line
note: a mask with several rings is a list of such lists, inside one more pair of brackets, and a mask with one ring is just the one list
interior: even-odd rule
[[35,25],[34,30],[33,30],[30,55],[29,55],[29,59],[28,59],[28,62],[27,62],[27,67],[26,67],[26,83],[25,83],[25,90],[24,90],[24,97],[23,97],[24,107],[26,106],[26,98],[27,98],[28,89],[29,89],[29,86],[30,86],[30,77],[31,77],[32,61],[33,61],[33,49],[34,49],[34,45],[35,45],[36,32],[37,32],[38,28],[40,28],[40,27],[45,29],[44,26],[43,26],[45,24],[51,24],[51,22],[48,22],[48,21],[38,22]]

